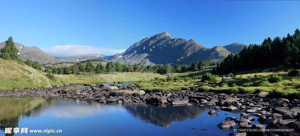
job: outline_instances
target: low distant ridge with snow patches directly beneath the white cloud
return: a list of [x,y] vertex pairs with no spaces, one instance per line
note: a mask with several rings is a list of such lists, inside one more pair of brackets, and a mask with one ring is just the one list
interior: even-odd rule
[[54,57],[57,60],[63,62],[78,62],[82,60],[90,60],[90,59],[102,59],[106,57],[104,54],[85,54],[85,55],[77,55],[77,56],[70,56],[70,57]]

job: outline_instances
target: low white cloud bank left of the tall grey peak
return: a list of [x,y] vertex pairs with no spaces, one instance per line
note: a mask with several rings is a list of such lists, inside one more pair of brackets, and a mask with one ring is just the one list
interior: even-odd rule
[[44,52],[54,57],[70,57],[84,54],[104,54],[104,55],[115,55],[123,53],[126,50],[116,50],[110,48],[95,48],[92,46],[82,45],[56,45],[51,48],[41,48]]

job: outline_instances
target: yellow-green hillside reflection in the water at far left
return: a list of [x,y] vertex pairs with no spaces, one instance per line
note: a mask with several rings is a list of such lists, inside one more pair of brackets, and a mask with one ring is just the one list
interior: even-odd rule
[[[45,99],[19,98],[0,99],[0,129],[18,127],[19,119],[32,116],[32,110],[38,112],[41,110],[42,103]],[[12,136],[14,133],[6,134]]]

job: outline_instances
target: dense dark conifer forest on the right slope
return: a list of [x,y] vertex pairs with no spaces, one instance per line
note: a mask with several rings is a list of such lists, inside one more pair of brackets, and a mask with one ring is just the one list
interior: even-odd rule
[[280,66],[286,63],[300,63],[300,31],[293,35],[287,34],[282,39],[268,37],[261,44],[251,44],[239,53],[229,54],[221,63],[220,74],[235,73],[243,70],[253,70],[262,67]]

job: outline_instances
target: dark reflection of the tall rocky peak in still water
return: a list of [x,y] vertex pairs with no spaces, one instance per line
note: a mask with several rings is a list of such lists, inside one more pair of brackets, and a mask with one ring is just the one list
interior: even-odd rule
[[129,113],[144,122],[167,128],[174,121],[195,119],[199,114],[209,110],[209,107],[171,106],[171,104],[125,104],[124,107]]

